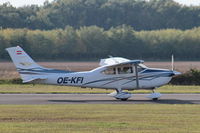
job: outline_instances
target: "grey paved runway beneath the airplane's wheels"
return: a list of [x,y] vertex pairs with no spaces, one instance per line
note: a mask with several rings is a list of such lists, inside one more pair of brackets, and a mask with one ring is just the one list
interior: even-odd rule
[[200,104],[200,94],[162,94],[158,101],[147,95],[120,101],[107,94],[0,94],[0,104]]

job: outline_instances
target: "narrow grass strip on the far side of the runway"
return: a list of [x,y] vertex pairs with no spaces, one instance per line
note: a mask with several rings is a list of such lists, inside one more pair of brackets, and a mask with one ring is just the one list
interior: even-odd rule
[[[113,90],[90,89],[69,86],[0,84],[0,93],[110,93]],[[150,90],[135,90],[132,93],[150,93]],[[161,93],[200,93],[200,86],[166,85],[157,89]]]

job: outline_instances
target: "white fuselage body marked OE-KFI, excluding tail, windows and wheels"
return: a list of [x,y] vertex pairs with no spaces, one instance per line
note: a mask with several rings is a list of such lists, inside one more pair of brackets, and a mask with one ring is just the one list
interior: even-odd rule
[[105,69],[99,67],[85,72],[46,73],[48,78],[39,83],[104,89],[153,89],[167,84],[173,73],[166,69],[145,68],[138,73],[137,87],[134,73],[106,75],[102,73]]

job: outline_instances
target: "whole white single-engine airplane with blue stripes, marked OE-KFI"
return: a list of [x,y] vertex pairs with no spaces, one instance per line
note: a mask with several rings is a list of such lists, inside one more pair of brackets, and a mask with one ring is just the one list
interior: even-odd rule
[[114,89],[110,94],[116,99],[127,100],[131,93],[123,90],[152,90],[148,96],[157,100],[161,94],[154,90],[167,84],[172,76],[179,72],[168,69],[148,68],[143,60],[128,60],[121,57],[101,59],[100,66],[84,72],[72,72],[45,68],[33,59],[19,46],[6,49],[19,72],[23,83],[40,83],[82,88]]

